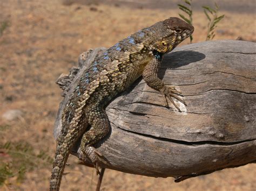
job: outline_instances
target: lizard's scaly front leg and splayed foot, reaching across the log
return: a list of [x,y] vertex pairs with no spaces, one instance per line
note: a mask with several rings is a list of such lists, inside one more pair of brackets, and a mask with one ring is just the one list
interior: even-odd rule
[[[169,107],[166,97],[169,98],[169,100],[172,102],[174,107],[176,107],[179,111],[179,107],[174,103],[172,100],[172,97],[176,98],[180,102],[185,103],[184,100],[182,100],[180,97],[177,96],[181,95],[181,92],[176,90],[174,87],[167,87],[162,80],[159,79],[157,73],[160,67],[160,59],[153,58],[147,65],[145,66],[145,69],[143,70],[143,79],[145,80],[146,84],[157,90],[160,91],[161,94],[165,97],[166,106]],[[180,111],[181,112],[181,111]]]

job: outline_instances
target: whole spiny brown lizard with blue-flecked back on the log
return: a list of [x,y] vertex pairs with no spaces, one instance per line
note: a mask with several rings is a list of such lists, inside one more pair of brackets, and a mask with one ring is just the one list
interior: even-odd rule
[[81,136],[79,154],[89,158],[99,173],[103,155],[93,144],[110,130],[105,107],[138,77],[143,76],[148,86],[163,94],[166,106],[169,107],[168,98],[180,111],[172,98],[185,104],[178,96],[182,96],[181,92],[166,86],[157,73],[163,54],[171,52],[193,31],[192,25],[170,17],[119,41],[92,61],[79,77],[62,113],[62,130],[57,138],[50,190],[59,190],[70,150]]

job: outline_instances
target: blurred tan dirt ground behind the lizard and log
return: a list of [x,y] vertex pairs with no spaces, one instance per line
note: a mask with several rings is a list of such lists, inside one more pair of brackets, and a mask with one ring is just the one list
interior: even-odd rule
[[[48,190],[53,123],[62,100],[58,76],[68,73],[87,49],[110,47],[143,27],[178,16],[179,10],[60,0],[1,0],[0,10],[0,116],[11,109],[22,112],[13,121],[0,117],[0,190]],[[220,14],[225,18],[215,40],[256,40],[255,13]],[[203,11],[194,12],[193,25],[193,43],[204,41]],[[62,190],[95,190],[95,169],[79,165],[73,156],[68,163]],[[250,164],[174,183],[173,178],[106,169],[102,190],[256,190],[255,175],[256,164]]]

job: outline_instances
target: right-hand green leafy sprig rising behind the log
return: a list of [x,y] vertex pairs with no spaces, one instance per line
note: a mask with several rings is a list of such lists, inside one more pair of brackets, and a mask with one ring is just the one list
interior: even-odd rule
[[[217,23],[219,23],[225,15],[221,15],[218,17],[219,6],[217,5],[217,3],[215,3],[214,9],[210,8],[209,6],[202,7],[208,19],[206,40],[212,40],[215,37],[214,29],[217,27]],[[211,17],[209,16],[209,13],[211,13]]]

